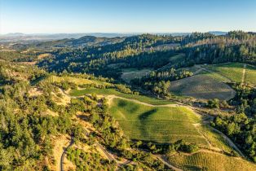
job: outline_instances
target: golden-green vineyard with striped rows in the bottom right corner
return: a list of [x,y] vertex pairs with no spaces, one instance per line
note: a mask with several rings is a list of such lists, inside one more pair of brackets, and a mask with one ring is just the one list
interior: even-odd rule
[[256,164],[240,158],[212,151],[198,151],[192,155],[177,153],[168,157],[171,164],[183,170],[255,171]]

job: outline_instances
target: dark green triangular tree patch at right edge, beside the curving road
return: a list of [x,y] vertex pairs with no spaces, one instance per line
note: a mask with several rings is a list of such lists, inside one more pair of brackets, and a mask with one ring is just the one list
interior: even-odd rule
[[256,162],[256,119],[244,113],[234,116],[218,116],[211,123],[236,142],[237,146]]

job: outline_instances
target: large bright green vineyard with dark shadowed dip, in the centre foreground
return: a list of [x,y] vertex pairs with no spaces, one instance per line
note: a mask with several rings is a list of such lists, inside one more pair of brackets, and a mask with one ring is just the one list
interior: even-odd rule
[[131,139],[174,142],[183,139],[207,146],[193,124],[201,122],[187,107],[148,107],[124,99],[113,99],[109,113]]

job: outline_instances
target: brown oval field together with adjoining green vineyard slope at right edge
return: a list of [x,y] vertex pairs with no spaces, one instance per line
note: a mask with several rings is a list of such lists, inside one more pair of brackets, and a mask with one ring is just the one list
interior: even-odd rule
[[[197,99],[231,99],[235,93],[223,82],[241,82],[244,64],[197,65],[197,67],[185,69],[196,72],[200,68],[205,69],[201,69],[201,72],[198,72],[194,77],[171,82],[170,91],[174,94],[192,96]],[[256,85],[256,68],[254,66],[247,65],[245,82]]]

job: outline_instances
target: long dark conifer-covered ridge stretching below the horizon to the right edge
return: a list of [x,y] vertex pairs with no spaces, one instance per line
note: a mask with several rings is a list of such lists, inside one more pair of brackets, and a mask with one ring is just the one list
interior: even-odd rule
[[[175,45],[171,49],[155,50],[161,45]],[[90,72],[106,77],[118,77],[121,68],[161,68],[171,56],[185,54],[180,64],[218,64],[245,62],[256,64],[256,34],[241,31],[214,36],[211,33],[192,33],[187,36],[157,36],[143,34],[126,37],[123,42],[79,49],[64,48],[52,52],[53,58],[43,59],[39,66],[50,71]],[[109,64],[121,64],[110,68]]]

